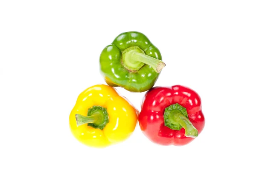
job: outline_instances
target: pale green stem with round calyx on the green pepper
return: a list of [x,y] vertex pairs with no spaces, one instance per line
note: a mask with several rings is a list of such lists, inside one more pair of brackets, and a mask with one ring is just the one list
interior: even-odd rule
[[137,71],[147,64],[157,73],[160,73],[163,67],[166,66],[163,61],[146,55],[145,52],[137,46],[127,48],[122,52],[122,64],[129,71]]

